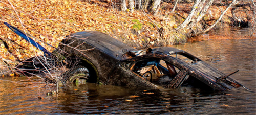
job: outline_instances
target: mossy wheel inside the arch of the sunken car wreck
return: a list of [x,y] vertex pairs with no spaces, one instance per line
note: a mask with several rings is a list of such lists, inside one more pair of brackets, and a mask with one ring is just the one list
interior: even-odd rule
[[84,66],[77,66],[64,75],[66,83],[85,84],[89,79],[89,71]]

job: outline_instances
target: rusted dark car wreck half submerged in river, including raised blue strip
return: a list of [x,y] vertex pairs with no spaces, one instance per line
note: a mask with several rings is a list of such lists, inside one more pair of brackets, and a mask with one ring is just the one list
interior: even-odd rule
[[[32,43],[32,39],[22,31],[5,24]],[[61,63],[68,68],[59,77],[64,83],[86,81],[153,89],[190,86],[219,91],[242,86],[249,90],[230,78],[233,73],[225,75],[183,50],[171,47],[137,50],[97,31],[71,34],[52,53],[38,47],[36,42],[34,45],[44,51],[46,56],[36,56],[20,62],[16,66],[18,73],[49,73],[51,68],[56,68]],[[54,79],[49,81],[54,82]]]

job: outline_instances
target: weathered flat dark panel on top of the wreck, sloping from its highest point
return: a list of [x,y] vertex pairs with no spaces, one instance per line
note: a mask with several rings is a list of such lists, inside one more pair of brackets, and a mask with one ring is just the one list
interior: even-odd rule
[[82,39],[82,41],[87,42],[96,49],[117,60],[120,60],[120,57],[124,52],[136,50],[133,47],[98,31],[77,32],[70,36],[75,38],[86,38]]

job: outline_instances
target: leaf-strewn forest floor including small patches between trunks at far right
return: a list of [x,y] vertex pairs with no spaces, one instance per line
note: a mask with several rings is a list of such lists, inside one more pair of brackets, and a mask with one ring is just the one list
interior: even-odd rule
[[[186,36],[177,33],[175,28],[184,21],[192,5],[180,3],[175,12],[170,13],[174,6],[173,3],[163,3],[159,13],[151,15],[146,11],[137,10],[122,12],[117,6],[113,6],[110,0],[35,0],[22,2],[2,0],[0,2],[0,19],[54,47],[58,47],[58,43],[71,33],[100,31],[132,47],[141,49],[148,42],[150,42],[151,47],[186,42]],[[204,17],[206,24],[212,25],[225,8],[226,6],[212,6]],[[230,17],[232,17],[231,10],[225,14],[216,28],[236,26]],[[8,29],[3,22],[0,22],[0,28],[0,38],[9,47],[7,49],[0,41],[0,70],[7,68],[6,63],[3,63],[4,60],[9,66],[14,67],[18,59],[24,60],[32,56],[42,55],[41,51]],[[158,32],[159,28],[164,30],[162,37]],[[255,33],[252,34],[255,35]],[[47,44],[36,41],[49,51],[54,50]]]

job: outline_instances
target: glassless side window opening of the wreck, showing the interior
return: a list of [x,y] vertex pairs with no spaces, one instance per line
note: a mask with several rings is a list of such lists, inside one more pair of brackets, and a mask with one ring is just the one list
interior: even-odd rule
[[130,70],[144,80],[167,86],[180,69],[162,59],[150,58],[134,62]]

